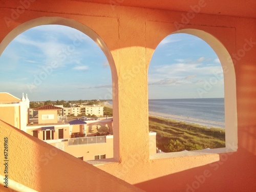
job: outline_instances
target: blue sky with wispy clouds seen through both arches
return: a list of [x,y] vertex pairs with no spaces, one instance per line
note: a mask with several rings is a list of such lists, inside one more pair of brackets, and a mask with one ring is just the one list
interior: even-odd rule
[[[0,57],[0,92],[30,101],[112,99],[108,60],[87,35],[58,25],[18,35]],[[202,39],[172,34],[148,69],[150,99],[224,97],[220,61]]]

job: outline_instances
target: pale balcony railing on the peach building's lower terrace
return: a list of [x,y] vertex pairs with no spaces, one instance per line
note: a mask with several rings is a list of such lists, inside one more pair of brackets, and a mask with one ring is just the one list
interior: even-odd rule
[[87,144],[97,144],[97,143],[105,143],[106,136],[98,136],[98,137],[80,137],[80,138],[72,138],[68,140],[68,145],[87,145]]

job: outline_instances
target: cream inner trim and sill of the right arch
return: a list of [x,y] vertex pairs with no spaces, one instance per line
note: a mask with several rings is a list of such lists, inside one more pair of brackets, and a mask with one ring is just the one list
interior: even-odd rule
[[198,29],[182,29],[176,33],[186,33],[195,35],[203,39],[215,51],[220,59],[224,75],[224,105],[225,105],[225,148],[216,148],[211,150],[199,150],[190,152],[175,152],[167,154],[152,155],[151,159],[160,159],[177,156],[195,156],[205,153],[226,153],[236,152],[238,149],[238,119],[237,119],[237,89],[236,73],[230,54],[227,49],[215,36]]

